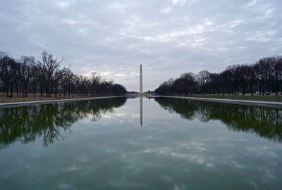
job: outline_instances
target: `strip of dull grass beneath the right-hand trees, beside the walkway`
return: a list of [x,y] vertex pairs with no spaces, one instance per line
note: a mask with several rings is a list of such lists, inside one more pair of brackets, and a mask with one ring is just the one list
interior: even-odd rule
[[282,102],[282,96],[278,95],[194,95],[191,97],[207,98],[207,99],[235,99],[235,100],[251,100],[251,101],[279,101]]

